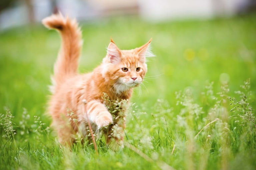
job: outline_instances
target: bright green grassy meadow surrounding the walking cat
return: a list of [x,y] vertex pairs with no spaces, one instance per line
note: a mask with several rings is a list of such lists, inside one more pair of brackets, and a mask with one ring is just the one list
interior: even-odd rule
[[[44,115],[60,39],[42,26],[0,33],[0,169],[255,169],[256,16],[145,23],[81,23],[80,71],[110,37],[121,49],[151,37],[145,87],[127,113],[122,150],[60,147]],[[24,109],[26,108],[26,109]]]

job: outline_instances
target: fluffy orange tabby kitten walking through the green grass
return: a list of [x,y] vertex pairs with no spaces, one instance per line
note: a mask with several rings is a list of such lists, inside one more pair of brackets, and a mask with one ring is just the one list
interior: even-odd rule
[[83,136],[88,134],[87,112],[93,131],[104,129],[106,143],[114,138],[118,144],[122,144],[123,130],[119,137],[110,134],[115,125],[125,128],[125,116],[122,117],[122,125],[117,124],[103,99],[104,96],[111,101],[131,98],[133,88],[140,85],[147,72],[145,61],[151,40],[139,48],[120,50],[111,39],[102,63],[90,73],[78,74],[82,40],[77,22],[55,14],[45,18],[42,23],[50,29],[56,29],[62,39],[54,65],[52,96],[48,108],[59,142],[71,145],[77,132],[82,132]]

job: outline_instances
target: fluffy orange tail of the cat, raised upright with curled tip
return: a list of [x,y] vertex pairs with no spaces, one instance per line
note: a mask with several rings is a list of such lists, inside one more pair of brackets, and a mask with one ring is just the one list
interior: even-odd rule
[[64,18],[61,13],[42,20],[45,27],[56,29],[61,35],[61,48],[54,65],[53,92],[69,76],[77,74],[78,59],[82,47],[82,34],[76,20]]

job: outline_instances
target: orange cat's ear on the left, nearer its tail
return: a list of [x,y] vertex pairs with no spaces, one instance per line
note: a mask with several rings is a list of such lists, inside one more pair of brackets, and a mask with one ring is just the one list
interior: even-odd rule
[[121,59],[121,51],[116,46],[116,44],[112,40],[112,38],[110,40],[111,40],[111,42],[109,43],[108,50],[107,50],[108,62],[117,64],[120,62],[120,59]]

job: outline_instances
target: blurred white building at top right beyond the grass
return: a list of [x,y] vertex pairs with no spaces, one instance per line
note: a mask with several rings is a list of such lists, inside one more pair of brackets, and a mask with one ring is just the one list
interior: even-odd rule
[[149,20],[232,16],[249,0],[139,0],[142,16]]

